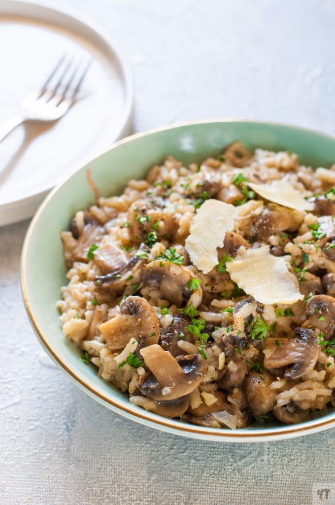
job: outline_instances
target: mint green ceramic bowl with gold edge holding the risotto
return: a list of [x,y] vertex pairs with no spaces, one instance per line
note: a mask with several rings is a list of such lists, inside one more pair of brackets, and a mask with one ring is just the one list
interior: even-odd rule
[[68,228],[76,211],[93,204],[86,182],[87,168],[100,194],[113,195],[122,191],[128,179],[143,177],[149,167],[167,155],[184,163],[200,162],[237,139],[251,149],[290,149],[302,163],[313,167],[328,167],[335,162],[335,138],[280,124],[212,120],[167,126],[125,138],[53,189],[38,209],[22,252],[24,302],[36,335],[53,361],[92,398],[128,419],[176,435],[212,441],[258,442],[306,435],[335,426],[335,412],[297,425],[264,423],[233,431],[166,419],[132,405],[127,395],[97,377],[93,365],[82,363],[79,350],[63,336],[55,308],[61,286],[67,282],[60,233]]

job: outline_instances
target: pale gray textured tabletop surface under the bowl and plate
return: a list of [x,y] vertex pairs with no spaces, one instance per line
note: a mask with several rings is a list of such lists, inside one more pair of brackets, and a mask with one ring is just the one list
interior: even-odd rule
[[[136,131],[232,116],[335,132],[331,0],[58,5],[92,16],[124,47],[136,80]],[[313,484],[335,481],[335,430],[268,444],[198,442],[127,421],[76,388],[44,354],[24,312],[27,226],[0,229],[0,503],[298,505],[313,502]]]

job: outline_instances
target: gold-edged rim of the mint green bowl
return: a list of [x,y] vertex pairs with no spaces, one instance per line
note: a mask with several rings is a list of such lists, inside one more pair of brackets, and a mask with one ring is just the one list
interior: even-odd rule
[[[315,133],[318,136],[323,136],[326,137],[332,141],[335,142],[335,136],[329,135],[323,132],[320,132],[318,130],[314,130],[311,128],[304,128],[296,125],[291,125],[291,124],[285,124],[285,123],[278,123],[278,122],[271,122],[271,121],[257,121],[257,120],[245,120],[245,119],[238,119],[238,118],[215,118],[215,119],[201,119],[198,121],[187,121],[187,122],[180,122],[180,123],[173,123],[170,125],[166,126],[160,126],[156,128],[151,128],[149,130],[145,130],[143,132],[138,132],[134,133],[132,135],[129,135],[121,140],[118,140],[114,142],[111,146],[103,149],[99,154],[94,156],[93,158],[90,158],[86,163],[81,164],[79,167],[77,167],[69,176],[63,180],[60,184],[55,186],[49,194],[45,197],[45,199],[42,201],[41,205],[37,209],[35,215],[33,216],[28,230],[26,232],[24,242],[23,242],[23,247],[22,247],[22,253],[21,253],[21,291],[22,291],[22,296],[23,296],[23,301],[25,305],[25,309],[27,312],[27,315],[29,317],[30,323],[33,326],[33,329],[35,331],[36,336],[38,337],[42,347],[47,351],[47,354],[51,356],[53,361],[57,363],[64,372],[68,373],[72,379],[74,379],[75,383],[83,389],[87,394],[92,396],[93,399],[96,399],[97,401],[102,402],[103,404],[107,404],[106,407],[108,407],[111,410],[114,410],[115,412],[119,413],[120,415],[127,416],[128,418],[132,419],[135,422],[139,422],[141,424],[149,424],[150,427],[155,428],[155,429],[160,429],[172,433],[176,433],[182,436],[188,436],[188,437],[197,437],[201,438],[203,440],[221,440],[221,441],[231,441],[231,442],[259,442],[259,441],[265,441],[265,440],[280,440],[280,439],[286,439],[286,438],[294,438],[298,436],[303,436],[305,434],[311,434],[315,433],[321,430],[325,429],[330,429],[335,426],[335,412],[333,413],[332,418],[330,419],[324,419],[322,418],[319,419],[314,419],[307,421],[305,423],[298,423],[297,425],[288,425],[288,426],[280,426],[280,427],[275,427],[275,428],[265,428],[264,430],[260,429],[255,429],[255,430],[246,430],[246,429],[239,429],[239,430],[229,430],[225,428],[221,429],[215,429],[215,428],[205,428],[201,429],[199,427],[196,427],[195,425],[192,424],[182,424],[178,423],[173,419],[168,419],[164,418],[163,416],[159,416],[159,419],[152,418],[150,414],[148,414],[147,411],[142,409],[141,411],[133,410],[131,408],[131,403],[129,403],[129,408],[123,405],[120,405],[117,401],[115,401],[113,398],[110,398],[109,396],[106,396],[102,392],[99,392],[96,390],[94,387],[92,387],[90,384],[88,384],[84,378],[80,377],[78,374],[76,374],[71,368],[65,363],[65,361],[57,354],[57,352],[54,351],[52,346],[48,343],[47,338],[44,336],[41,328],[39,327],[37,320],[33,314],[33,310],[30,305],[29,297],[28,297],[28,290],[27,290],[27,282],[26,282],[26,260],[27,260],[27,251],[30,243],[30,238],[33,233],[34,227],[36,223],[39,220],[40,215],[42,214],[44,208],[47,206],[49,201],[53,198],[53,195],[58,192],[58,190],[63,186],[63,184],[66,184],[67,181],[78,171],[80,171],[83,167],[85,167],[88,163],[92,163],[94,160],[99,158],[100,156],[105,155],[106,153],[109,153],[109,151],[114,150],[118,146],[122,144],[126,144],[128,142],[131,142],[132,140],[144,137],[144,136],[149,136],[153,133],[158,133],[166,130],[172,130],[180,127],[187,127],[187,126],[196,126],[196,125],[201,125],[201,124],[206,124],[206,123],[250,123],[250,124],[259,124],[259,125],[271,125],[271,126],[279,126],[279,127],[284,127],[284,128],[292,128],[293,130],[300,130],[300,131],[306,131],[310,133]],[[180,432],[180,433],[179,433]],[[199,436],[200,435],[200,436]]]

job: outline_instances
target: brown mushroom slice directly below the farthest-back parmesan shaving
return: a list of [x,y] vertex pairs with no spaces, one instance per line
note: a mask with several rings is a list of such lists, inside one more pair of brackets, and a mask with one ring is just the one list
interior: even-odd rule
[[270,235],[288,230],[293,224],[291,213],[275,204],[268,204],[253,225],[253,234],[257,240],[266,241]]

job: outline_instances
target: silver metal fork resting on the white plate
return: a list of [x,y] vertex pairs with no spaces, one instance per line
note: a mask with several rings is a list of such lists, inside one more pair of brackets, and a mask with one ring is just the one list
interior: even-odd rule
[[82,65],[79,63],[74,67],[71,59],[67,60],[65,55],[62,56],[42,87],[23,100],[20,114],[0,126],[0,142],[26,121],[48,123],[63,117],[75,103],[91,63],[92,60],[89,60],[79,73]]

